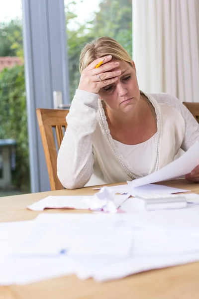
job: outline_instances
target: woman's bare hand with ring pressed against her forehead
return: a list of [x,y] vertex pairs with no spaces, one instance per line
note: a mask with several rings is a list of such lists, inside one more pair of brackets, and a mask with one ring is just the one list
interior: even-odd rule
[[[103,60],[100,67],[96,65]],[[114,70],[119,66],[119,62],[111,61],[112,56],[105,56],[94,60],[82,72],[78,89],[98,94],[100,88],[117,81],[121,71]]]

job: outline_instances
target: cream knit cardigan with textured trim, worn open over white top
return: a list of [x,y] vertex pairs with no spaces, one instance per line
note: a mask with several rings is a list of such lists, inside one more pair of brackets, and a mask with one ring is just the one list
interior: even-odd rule
[[[149,171],[152,173],[172,162],[180,148],[187,151],[199,140],[199,124],[174,96],[145,95],[157,118]],[[67,130],[57,158],[57,174],[65,188],[124,182],[143,176],[115,146],[98,94],[76,90],[66,120]]]

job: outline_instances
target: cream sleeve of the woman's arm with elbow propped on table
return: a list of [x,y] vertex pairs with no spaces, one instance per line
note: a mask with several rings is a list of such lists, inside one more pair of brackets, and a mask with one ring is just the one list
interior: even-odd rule
[[91,135],[96,129],[98,94],[76,90],[67,130],[57,157],[57,175],[65,188],[84,187],[93,174]]

